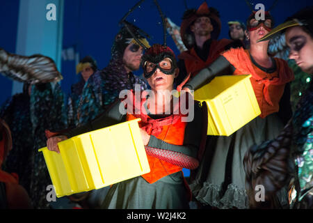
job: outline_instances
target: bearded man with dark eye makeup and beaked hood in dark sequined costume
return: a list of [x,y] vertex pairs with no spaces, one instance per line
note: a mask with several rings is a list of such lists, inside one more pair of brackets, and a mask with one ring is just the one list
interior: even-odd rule
[[[139,28],[129,24],[129,29],[146,46],[147,39],[139,32]],[[90,76],[79,101],[77,109],[77,125],[93,120],[108,109],[117,100],[123,89],[134,89],[135,85],[147,89],[147,84],[141,77],[133,74],[140,68],[143,47],[141,47],[125,26],[122,26],[115,36],[111,47],[111,61],[106,68]]]

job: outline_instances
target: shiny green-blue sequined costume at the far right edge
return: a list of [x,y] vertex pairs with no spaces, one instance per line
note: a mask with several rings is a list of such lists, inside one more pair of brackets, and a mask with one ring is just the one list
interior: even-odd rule
[[292,123],[295,183],[291,188],[291,207],[313,208],[313,84],[298,103]]

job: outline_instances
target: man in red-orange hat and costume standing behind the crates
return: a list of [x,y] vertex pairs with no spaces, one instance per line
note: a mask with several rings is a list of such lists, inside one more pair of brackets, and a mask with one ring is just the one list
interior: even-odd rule
[[191,77],[209,66],[219,54],[230,47],[241,47],[228,39],[217,40],[220,35],[220,18],[215,8],[209,8],[204,2],[198,10],[186,10],[183,16],[180,34],[187,51],[179,54],[179,77],[177,84],[191,74]]

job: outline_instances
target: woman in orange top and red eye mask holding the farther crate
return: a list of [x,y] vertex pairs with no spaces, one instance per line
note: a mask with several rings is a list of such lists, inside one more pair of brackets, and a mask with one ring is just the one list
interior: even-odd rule
[[[211,137],[207,142],[203,162],[191,184],[195,198],[203,205],[248,208],[243,156],[253,144],[278,136],[291,116],[290,96],[285,86],[294,79],[294,74],[286,61],[268,56],[268,41],[257,43],[272,28],[273,17],[268,12],[265,20],[259,21],[253,12],[247,20],[246,31],[250,49],[223,52],[184,87],[187,91],[199,89],[226,68],[232,70],[230,75],[251,74],[250,81],[262,112],[230,137]],[[287,192],[278,195],[273,206],[288,206]]]

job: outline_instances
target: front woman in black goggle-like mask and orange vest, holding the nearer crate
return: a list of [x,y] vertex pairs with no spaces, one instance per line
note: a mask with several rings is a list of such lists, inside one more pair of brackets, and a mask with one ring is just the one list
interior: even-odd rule
[[[203,122],[207,111],[200,107],[199,102],[187,98],[191,100],[186,103],[194,105],[194,109],[188,111],[194,113],[194,118],[186,122],[186,114],[179,106],[186,98],[175,101],[174,96],[168,93],[173,90],[174,79],[179,72],[172,49],[153,45],[145,51],[141,66],[151,86],[149,93],[143,91],[141,98],[136,98],[136,94],[129,91],[127,100],[131,103],[116,102],[95,121],[67,131],[62,136],[51,137],[47,146],[49,150],[58,152],[58,141],[141,118],[139,126],[150,173],[112,185],[102,208],[189,208],[191,194],[182,168],[198,167],[198,152],[207,131]],[[120,105],[127,105],[126,115],[120,113]],[[136,109],[140,112],[135,112]]]

